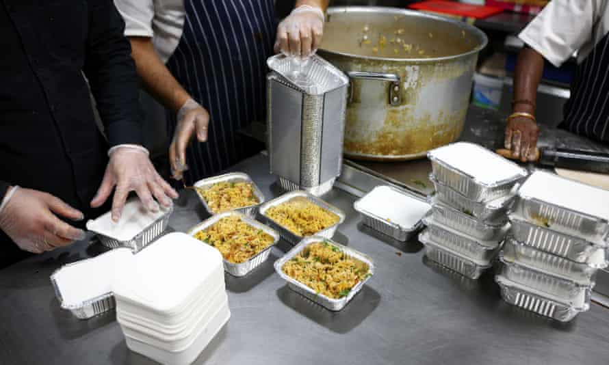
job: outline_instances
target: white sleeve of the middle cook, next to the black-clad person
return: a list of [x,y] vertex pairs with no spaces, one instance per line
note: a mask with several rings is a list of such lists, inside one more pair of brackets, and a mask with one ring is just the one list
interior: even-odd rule
[[125,36],[153,37],[153,0],[114,0],[116,9],[125,20]]

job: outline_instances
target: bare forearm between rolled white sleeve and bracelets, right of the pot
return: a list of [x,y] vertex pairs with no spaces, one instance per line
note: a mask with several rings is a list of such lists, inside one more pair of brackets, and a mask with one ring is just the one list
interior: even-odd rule
[[513,111],[534,113],[537,87],[543,74],[543,57],[534,49],[524,48],[518,55],[514,72]]

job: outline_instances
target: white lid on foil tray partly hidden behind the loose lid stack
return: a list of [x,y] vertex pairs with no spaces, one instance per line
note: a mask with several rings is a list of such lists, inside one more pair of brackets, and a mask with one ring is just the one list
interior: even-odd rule
[[79,306],[112,291],[116,265],[133,259],[131,249],[119,248],[94,258],[66,265],[53,274],[62,305]]

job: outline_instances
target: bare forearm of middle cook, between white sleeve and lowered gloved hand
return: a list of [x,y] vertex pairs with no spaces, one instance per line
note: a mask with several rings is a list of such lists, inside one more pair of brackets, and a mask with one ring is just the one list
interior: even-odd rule
[[157,55],[151,38],[129,37],[132,57],[144,88],[165,107],[178,111],[190,98]]

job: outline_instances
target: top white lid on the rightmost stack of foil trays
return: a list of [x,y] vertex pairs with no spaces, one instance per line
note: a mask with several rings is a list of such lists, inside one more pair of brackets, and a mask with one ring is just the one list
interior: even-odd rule
[[578,183],[549,172],[534,172],[520,187],[518,195],[609,220],[608,190]]

